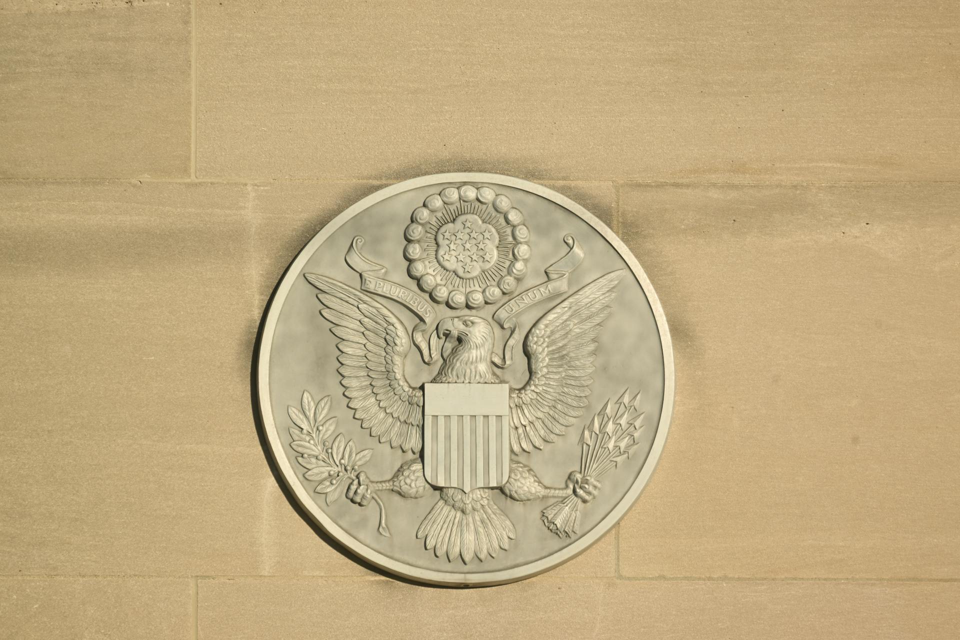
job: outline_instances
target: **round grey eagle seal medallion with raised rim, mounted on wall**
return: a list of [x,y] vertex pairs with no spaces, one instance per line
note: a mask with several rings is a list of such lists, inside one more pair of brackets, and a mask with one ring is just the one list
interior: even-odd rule
[[257,391],[326,533],[416,581],[517,581],[575,557],[660,457],[673,352],[630,250],[582,206],[492,174],[400,182],[297,255]]

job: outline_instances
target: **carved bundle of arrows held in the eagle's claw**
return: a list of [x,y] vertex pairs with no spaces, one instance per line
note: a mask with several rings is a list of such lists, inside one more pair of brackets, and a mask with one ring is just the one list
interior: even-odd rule
[[[600,478],[630,457],[638,443],[643,414],[636,413],[640,392],[631,398],[630,390],[623,391],[611,405],[607,400],[593,419],[584,425],[580,436],[580,472],[590,478]],[[560,537],[580,533],[580,500],[568,495],[555,502],[540,515],[543,524]]]

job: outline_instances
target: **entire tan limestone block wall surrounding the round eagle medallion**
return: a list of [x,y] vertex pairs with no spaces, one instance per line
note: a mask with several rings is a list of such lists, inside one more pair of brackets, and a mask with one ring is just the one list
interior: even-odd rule
[[[0,637],[953,638],[960,4],[0,0]],[[582,557],[394,581],[277,486],[288,261],[405,178],[542,182],[670,321]]]

